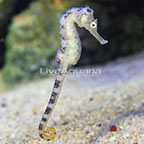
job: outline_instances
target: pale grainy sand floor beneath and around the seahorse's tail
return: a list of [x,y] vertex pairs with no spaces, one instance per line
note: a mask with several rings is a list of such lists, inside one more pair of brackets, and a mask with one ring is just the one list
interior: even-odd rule
[[102,73],[66,76],[50,142],[37,128],[54,77],[1,93],[0,144],[144,144],[144,53],[95,68]]

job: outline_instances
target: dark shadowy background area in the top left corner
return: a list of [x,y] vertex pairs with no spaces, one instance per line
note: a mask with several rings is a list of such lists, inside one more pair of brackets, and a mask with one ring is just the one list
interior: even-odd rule
[[6,47],[4,41],[11,19],[25,9],[31,1],[34,0],[3,0],[0,3],[0,68],[5,62]]

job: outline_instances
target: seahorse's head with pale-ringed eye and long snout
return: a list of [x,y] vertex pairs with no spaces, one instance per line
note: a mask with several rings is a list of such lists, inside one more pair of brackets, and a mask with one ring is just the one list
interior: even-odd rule
[[77,10],[77,24],[86,28],[101,44],[108,43],[97,32],[98,20],[94,18],[93,10],[86,6]]

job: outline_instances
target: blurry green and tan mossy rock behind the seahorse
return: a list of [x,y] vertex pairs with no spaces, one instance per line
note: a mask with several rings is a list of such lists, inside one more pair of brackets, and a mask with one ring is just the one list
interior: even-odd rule
[[39,78],[40,67],[55,67],[55,54],[60,47],[59,18],[64,10],[52,8],[50,3],[32,3],[13,18],[2,71],[8,86]]

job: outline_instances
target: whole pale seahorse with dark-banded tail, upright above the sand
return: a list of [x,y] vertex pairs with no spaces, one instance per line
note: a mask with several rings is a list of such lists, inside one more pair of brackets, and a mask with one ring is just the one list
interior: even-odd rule
[[47,128],[47,122],[60,95],[65,73],[69,65],[77,64],[81,55],[81,41],[75,23],[87,29],[102,45],[108,43],[97,32],[97,19],[94,19],[93,10],[89,6],[71,8],[60,18],[61,48],[56,54],[57,73],[50,100],[39,125],[39,135],[44,140],[51,140],[56,136],[53,128]]

